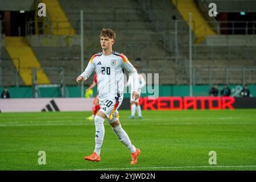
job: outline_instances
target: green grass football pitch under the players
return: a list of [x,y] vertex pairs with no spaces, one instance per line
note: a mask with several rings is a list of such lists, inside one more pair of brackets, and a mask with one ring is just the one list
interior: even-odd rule
[[[141,149],[136,165],[105,121],[101,162],[94,150],[91,112],[1,113],[0,170],[256,170],[256,110],[143,111],[120,121]],[[46,165],[39,165],[39,151]],[[210,165],[209,151],[217,164]]]

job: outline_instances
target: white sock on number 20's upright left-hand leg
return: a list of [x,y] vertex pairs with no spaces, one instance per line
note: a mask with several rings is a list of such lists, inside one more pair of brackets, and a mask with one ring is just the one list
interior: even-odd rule
[[96,129],[94,152],[96,152],[98,156],[101,155],[101,146],[102,146],[104,135],[105,135],[105,128],[103,123],[104,123],[104,119],[96,115],[96,117],[94,118],[94,124]]

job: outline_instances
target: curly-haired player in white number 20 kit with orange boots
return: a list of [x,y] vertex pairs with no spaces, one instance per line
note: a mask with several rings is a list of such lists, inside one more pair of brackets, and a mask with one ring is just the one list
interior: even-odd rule
[[85,81],[94,70],[97,72],[98,98],[101,109],[94,118],[96,127],[95,149],[92,155],[86,156],[85,160],[100,162],[101,146],[104,140],[104,119],[112,126],[119,140],[131,152],[131,164],[136,164],[141,151],[134,147],[125,130],[119,122],[118,107],[123,100],[123,68],[127,69],[133,77],[132,94],[134,100],[139,98],[138,74],[127,57],[112,50],[115,42],[115,32],[110,28],[103,28],[100,35],[102,52],[97,53],[90,59],[85,71],[76,78],[77,82]]

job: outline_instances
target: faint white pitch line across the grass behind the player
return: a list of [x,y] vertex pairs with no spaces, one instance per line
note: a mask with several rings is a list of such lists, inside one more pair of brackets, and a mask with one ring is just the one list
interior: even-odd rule
[[[215,123],[122,123],[122,125],[254,125],[254,122],[215,122]],[[108,123],[105,123],[108,125]],[[24,124],[16,124],[16,123],[5,123],[0,124],[0,127],[5,126],[94,126],[94,123],[24,123]]]

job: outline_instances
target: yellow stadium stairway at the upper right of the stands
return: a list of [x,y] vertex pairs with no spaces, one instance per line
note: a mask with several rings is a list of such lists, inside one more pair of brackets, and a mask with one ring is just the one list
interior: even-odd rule
[[179,13],[183,16],[183,19],[187,22],[189,26],[189,12],[192,14],[192,31],[196,35],[195,44],[203,42],[205,36],[216,35],[216,32],[212,30],[210,25],[205,21],[204,17],[201,15],[200,11],[197,9],[196,4],[193,0],[172,0],[174,5],[179,10]]

